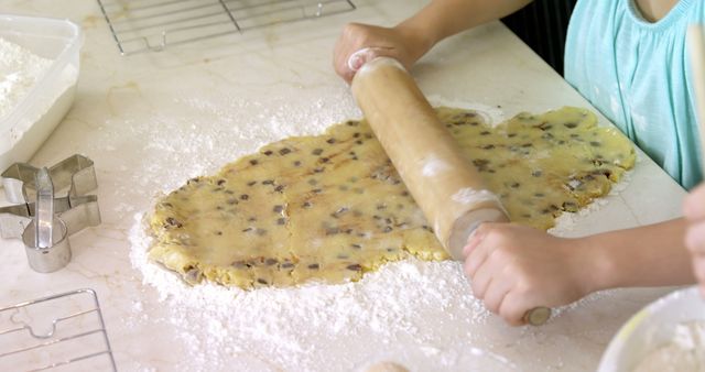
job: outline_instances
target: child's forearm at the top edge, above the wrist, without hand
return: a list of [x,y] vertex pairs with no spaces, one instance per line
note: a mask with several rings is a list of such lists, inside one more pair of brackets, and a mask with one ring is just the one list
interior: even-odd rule
[[434,0],[397,30],[425,51],[445,37],[498,20],[532,0]]

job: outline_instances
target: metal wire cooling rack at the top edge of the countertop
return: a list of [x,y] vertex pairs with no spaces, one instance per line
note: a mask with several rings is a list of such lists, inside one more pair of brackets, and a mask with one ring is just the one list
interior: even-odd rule
[[120,54],[355,10],[350,0],[97,0]]

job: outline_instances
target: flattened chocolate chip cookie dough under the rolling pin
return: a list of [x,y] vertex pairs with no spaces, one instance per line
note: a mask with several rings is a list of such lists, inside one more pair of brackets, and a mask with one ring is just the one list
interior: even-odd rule
[[[513,221],[553,227],[633,166],[630,142],[585,109],[521,113],[495,128],[440,108]],[[158,200],[150,258],[189,283],[340,283],[409,256],[448,255],[365,121],[290,138]]]

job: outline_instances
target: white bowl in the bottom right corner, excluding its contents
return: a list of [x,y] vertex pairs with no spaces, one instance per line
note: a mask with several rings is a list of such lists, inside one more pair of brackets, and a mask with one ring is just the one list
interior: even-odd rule
[[677,325],[705,321],[705,300],[697,287],[675,291],[633,315],[609,342],[598,371],[631,371],[674,338]]

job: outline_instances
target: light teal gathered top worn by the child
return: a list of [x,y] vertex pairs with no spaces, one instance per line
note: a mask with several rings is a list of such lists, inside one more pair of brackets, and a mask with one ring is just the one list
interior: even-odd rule
[[686,189],[703,180],[685,37],[696,22],[703,0],[655,23],[633,0],[578,0],[565,46],[565,79]]

